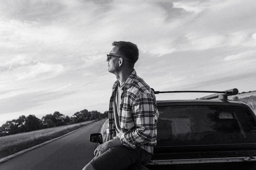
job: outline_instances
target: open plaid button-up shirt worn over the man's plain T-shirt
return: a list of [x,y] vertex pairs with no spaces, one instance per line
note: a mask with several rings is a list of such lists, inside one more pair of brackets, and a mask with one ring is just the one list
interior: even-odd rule
[[[107,140],[115,137],[113,107],[118,84],[119,81],[117,80],[113,85],[110,98],[109,124],[106,127]],[[137,76],[135,70],[122,86],[118,114],[121,132],[116,138],[128,148],[141,147],[153,154],[154,146],[157,143],[157,119],[159,116],[156,97],[154,91],[143,79]]]

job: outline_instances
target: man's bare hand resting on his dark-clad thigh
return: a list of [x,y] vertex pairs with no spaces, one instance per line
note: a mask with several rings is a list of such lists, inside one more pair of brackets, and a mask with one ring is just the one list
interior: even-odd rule
[[100,156],[101,154],[106,152],[108,149],[110,149],[112,147],[118,147],[118,146],[122,146],[119,139],[109,140],[105,143],[102,143],[102,144],[98,145],[98,147],[94,151],[94,155],[95,156]]

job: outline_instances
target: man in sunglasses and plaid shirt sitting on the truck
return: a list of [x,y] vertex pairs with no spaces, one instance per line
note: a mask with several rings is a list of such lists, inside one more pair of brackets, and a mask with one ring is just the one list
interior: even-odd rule
[[114,41],[106,61],[117,81],[110,98],[107,140],[94,151],[83,169],[135,169],[151,159],[156,145],[157,119],[154,91],[137,76],[136,44]]

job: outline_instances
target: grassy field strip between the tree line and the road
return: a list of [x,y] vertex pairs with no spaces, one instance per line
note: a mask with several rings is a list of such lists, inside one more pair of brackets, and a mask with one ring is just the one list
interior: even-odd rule
[[95,120],[0,137],[0,159],[89,125],[92,122],[95,122]]

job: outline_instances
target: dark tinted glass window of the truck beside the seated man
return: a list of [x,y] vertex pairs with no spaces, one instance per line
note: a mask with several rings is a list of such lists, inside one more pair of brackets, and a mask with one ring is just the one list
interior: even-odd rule
[[256,143],[256,123],[246,108],[158,107],[158,146]]

